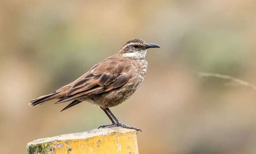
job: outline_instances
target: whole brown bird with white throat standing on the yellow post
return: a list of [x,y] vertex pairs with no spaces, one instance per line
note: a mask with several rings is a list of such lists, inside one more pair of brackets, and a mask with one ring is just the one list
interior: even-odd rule
[[119,126],[141,131],[122,124],[109,110],[109,107],[119,105],[138,89],[147,71],[145,56],[149,48],[160,48],[160,46],[146,43],[140,38],[132,39],[126,42],[117,54],[94,65],[74,82],[61,87],[52,94],[33,99],[29,105],[40,105],[52,99],[60,99],[55,104],[72,101],[61,110],[63,111],[82,101],[89,101],[100,106],[112,122],[112,124],[99,128]]

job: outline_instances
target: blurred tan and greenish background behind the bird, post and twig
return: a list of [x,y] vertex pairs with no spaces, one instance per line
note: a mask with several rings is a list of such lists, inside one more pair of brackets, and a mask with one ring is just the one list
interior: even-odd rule
[[137,92],[113,113],[138,133],[140,154],[255,154],[255,0],[1,0],[0,149],[26,154],[39,138],[110,124],[83,102],[29,107],[132,38],[157,43]]

